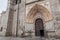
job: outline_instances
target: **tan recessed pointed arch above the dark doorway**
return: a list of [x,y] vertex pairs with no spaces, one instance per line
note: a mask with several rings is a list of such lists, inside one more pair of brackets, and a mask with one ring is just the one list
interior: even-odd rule
[[44,21],[49,21],[49,20],[52,20],[53,18],[47,8],[45,8],[42,5],[35,4],[35,6],[33,6],[31,10],[29,11],[29,13],[27,14],[27,22],[32,23],[34,16],[38,12],[40,12],[40,14],[43,15]]

